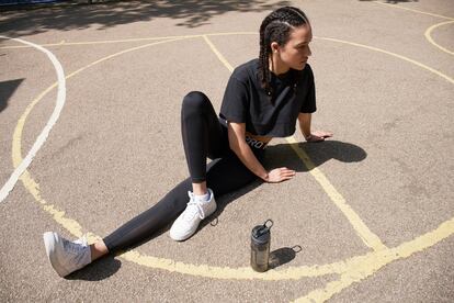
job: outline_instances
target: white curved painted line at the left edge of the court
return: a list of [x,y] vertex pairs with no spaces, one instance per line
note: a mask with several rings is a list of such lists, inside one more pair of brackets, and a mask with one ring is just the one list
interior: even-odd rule
[[50,115],[49,121],[47,121],[46,126],[44,126],[43,131],[36,138],[35,143],[33,144],[32,148],[30,149],[29,154],[25,156],[25,158],[22,160],[22,162],[14,169],[13,173],[11,175],[10,179],[8,179],[7,183],[1,188],[0,190],[0,203],[8,197],[8,194],[13,190],[15,183],[18,182],[21,175],[25,171],[25,169],[30,166],[33,158],[35,157],[36,153],[39,150],[39,148],[43,146],[43,144],[46,142],[47,136],[50,133],[52,127],[57,122],[60,112],[65,105],[66,101],[66,80],[65,80],[65,72],[63,70],[61,64],[58,61],[58,59],[55,57],[53,53],[47,50],[46,48],[36,45],[34,43],[20,40],[20,38],[11,38],[7,36],[1,36],[0,38],[7,38],[7,40],[13,40],[16,42],[20,42],[22,44],[30,45],[39,52],[43,52],[47,55],[47,57],[50,59],[52,64],[55,67],[55,70],[57,71],[57,79],[58,79],[58,92],[57,92],[57,102],[54,109],[54,112]]

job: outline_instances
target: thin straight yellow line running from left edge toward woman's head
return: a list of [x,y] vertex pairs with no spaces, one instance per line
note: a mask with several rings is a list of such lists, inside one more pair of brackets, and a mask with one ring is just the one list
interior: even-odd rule
[[[257,34],[257,33],[254,32],[211,33],[211,34],[205,34],[205,36],[250,35],[250,34]],[[194,37],[201,37],[201,36],[203,35],[175,35],[175,36],[162,36],[162,37],[124,38],[124,40],[86,41],[86,42],[66,42],[65,40],[63,40],[59,43],[42,44],[41,46],[50,47],[50,46],[73,46],[73,45],[99,45],[99,44],[113,44],[113,43],[146,42],[146,41],[156,41],[156,40],[194,38]],[[0,47],[0,49],[14,49],[14,48],[30,48],[30,46],[12,45],[12,46]]]

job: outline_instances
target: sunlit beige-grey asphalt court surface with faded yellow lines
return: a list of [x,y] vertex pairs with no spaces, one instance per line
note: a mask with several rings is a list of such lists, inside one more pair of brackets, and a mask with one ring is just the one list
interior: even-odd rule
[[[314,128],[334,137],[274,139],[266,166],[297,176],[220,197],[216,220],[185,243],[162,231],[55,274],[43,232],[105,236],[186,178],[182,97],[204,91],[218,110],[230,69],[257,56],[261,20],[283,4],[183,3],[1,14],[0,35],[43,45],[66,76],[58,120],[0,202],[1,301],[452,302],[451,1],[286,2],[311,20]],[[53,63],[24,46],[0,40],[1,187],[59,98]],[[269,217],[282,265],[259,274],[249,235]]]

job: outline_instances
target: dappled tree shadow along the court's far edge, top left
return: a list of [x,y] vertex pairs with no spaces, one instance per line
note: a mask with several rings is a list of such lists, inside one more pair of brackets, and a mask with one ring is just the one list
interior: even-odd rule
[[0,16],[0,33],[23,36],[50,30],[75,31],[95,26],[105,30],[121,24],[151,21],[158,18],[179,20],[177,25],[197,27],[212,18],[235,12],[271,11],[287,1],[264,0],[184,0],[184,1],[107,1],[95,4],[57,5],[29,10],[8,10]]

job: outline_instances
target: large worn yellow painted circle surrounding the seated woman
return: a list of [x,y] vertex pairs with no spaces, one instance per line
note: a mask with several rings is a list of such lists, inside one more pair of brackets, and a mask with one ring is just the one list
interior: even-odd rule
[[[234,33],[234,34],[241,34],[241,33]],[[216,35],[216,34],[208,34],[208,35]],[[201,35],[200,37],[202,37],[203,35]],[[193,38],[194,36],[191,36],[191,38]],[[317,38],[317,37],[315,37]],[[454,83],[454,80],[452,78],[450,78],[449,76],[434,70],[428,66],[424,66],[418,61],[415,61],[412,59],[409,59],[407,57],[400,56],[398,54],[394,54],[387,50],[383,50],[379,48],[375,48],[375,47],[371,47],[367,45],[361,45],[361,44],[355,44],[355,43],[351,43],[351,42],[345,42],[345,41],[340,41],[340,40],[334,40],[334,38],[324,38],[324,37],[318,37],[319,40],[325,40],[325,41],[331,41],[331,42],[336,42],[336,43],[343,43],[343,44],[349,44],[352,46],[357,46],[357,47],[363,47],[363,48],[367,48],[370,50],[375,50],[375,52],[381,52],[387,55],[391,55],[394,57],[407,60],[409,63],[412,63],[421,68],[424,68],[431,72],[434,72],[435,75],[444,78],[445,80],[450,81],[451,83]],[[134,48],[129,48],[120,53],[116,53],[114,55],[104,57],[95,63],[92,63],[81,69],[79,69],[78,71],[72,72],[71,75],[67,76],[67,79],[76,76],[77,74],[83,71],[84,69],[102,63],[106,59],[113,58],[115,56],[120,56],[122,54],[128,53],[128,52],[133,52],[133,50],[138,50],[148,46],[152,46],[152,45],[157,45],[157,44],[162,44],[162,43],[170,43],[172,41],[177,41],[177,40],[182,40],[180,38],[175,38],[175,40],[167,40],[163,42],[159,42],[159,43],[152,43],[152,44],[147,44],[147,45],[143,45],[139,47],[134,47]],[[43,96],[44,97],[44,96]],[[24,119],[24,121],[26,120],[26,115],[21,117]],[[20,130],[21,131],[21,130]],[[21,134],[21,132],[19,132]],[[15,137],[14,139],[21,139],[21,135],[19,135],[18,137]],[[20,142],[18,144],[18,148],[15,152],[13,150],[13,158],[15,158],[14,160],[14,167],[16,167],[16,161],[22,159],[21,154],[21,148],[20,148]],[[25,188],[33,194],[33,197],[35,198],[35,200],[37,202],[39,202],[43,206],[43,209],[48,212],[49,214],[52,214],[54,216],[54,220],[60,224],[64,228],[66,228],[69,233],[71,233],[73,236],[76,237],[80,237],[81,236],[81,226],[80,224],[69,217],[65,216],[65,212],[61,212],[60,210],[57,210],[54,205],[48,204],[39,194],[39,190],[38,190],[38,184],[31,178],[30,172],[25,171],[25,173],[21,177],[21,180],[23,181]],[[411,256],[412,254],[417,252],[417,251],[421,251],[428,247],[433,246],[434,244],[439,243],[440,240],[442,240],[443,238],[446,238],[449,236],[451,236],[454,233],[454,218],[449,220],[444,223],[442,223],[439,228],[429,232],[424,235],[421,235],[419,237],[417,237],[413,240],[407,242],[407,243],[402,243],[401,245],[394,247],[394,248],[386,248],[383,250],[377,250],[377,251],[371,251],[366,255],[363,256],[354,256],[352,258],[345,259],[345,260],[341,260],[341,261],[337,261],[337,262],[332,262],[332,263],[327,263],[327,265],[314,265],[314,266],[302,266],[302,267],[290,267],[285,270],[271,270],[269,272],[265,273],[258,273],[252,271],[252,269],[250,269],[249,267],[245,267],[245,268],[222,268],[222,267],[214,267],[214,266],[208,266],[208,265],[190,265],[190,263],[184,263],[184,262],[177,262],[173,261],[171,259],[163,259],[163,258],[157,258],[157,257],[152,257],[152,256],[146,256],[143,255],[136,250],[129,250],[125,254],[122,255],[122,257],[126,260],[136,262],[138,265],[143,265],[146,267],[150,267],[150,268],[158,268],[158,269],[164,269],[171,272],[179,272],[179,273],[185,273],[185,274],[192,274],[192,276],[197,276],[197,277],[207,277],[207,278],[215,278],[215,279],[235,279],[235,280],[240,280],[240,279],[259,279],[259,280],[297,280],[300,279],[303,277],[319,277],[319,276],[325,276],[325,274],[330,274],[330,273],[339,273],[339,274],[344,274],[344,273],[352,273],[352,272],[356,272],[359,270],[359,268],[362,268],[362,266],[365,265],[372,265],[370,267],[367,267],[367,269],[372,270],[372,272],[368,274],[373,274],[375,273],[377,270],[379,270],[383,266],[400,259],[400,258],[407,258],[409,256]],[[95,238],[95,236],[93,234],[89,234],[89,237],[91,238]],[[428,239],[429,237],[429,239]],[[432,239],[432,240],[430,240]],[[375,262],[374,262],[375,260]],[[375,265],[375,267],[374,267]],[[366,277],[368,277],[366,276]]]

